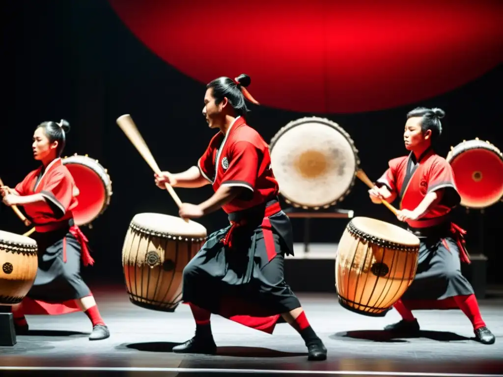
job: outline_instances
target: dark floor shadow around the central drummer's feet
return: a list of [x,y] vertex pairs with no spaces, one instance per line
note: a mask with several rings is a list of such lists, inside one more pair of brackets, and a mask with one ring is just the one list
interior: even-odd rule
[[[121,349],[129,348],[143,352],[173,353],[173,347],[179,344],[181,343],[173,343],[173,342],[131,343],[131,344],[122,344],[120,346],[117,346],[116,348]],[[274,358],[274,357],[307,356],[307,352],[283,352],[263,347],[227,346],[227,347],[217,347],[216,356]]]

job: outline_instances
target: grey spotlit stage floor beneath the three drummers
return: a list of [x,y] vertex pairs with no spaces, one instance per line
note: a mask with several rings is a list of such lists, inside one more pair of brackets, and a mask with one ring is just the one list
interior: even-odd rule
[[[328,349],[326,361],[308,362],[300,336],[287,324],[274,335],[218,316],[212,328],[217,356],[179,355],[173,345],[192,337],[190,309],[155,312],[131,304],[123,286],[92,287],[111,337],[89,341],[82,313],[28,316],[30,334],[0,347],[0,375],[503,375],[503,299],[480,302],[493,345],[472,340],[461,311],[418,311],[418,338],[389,338],[383,326],[399,320],[391,311],[370,318],[343,309],[334,294],[299,294],[306,315]],[[455,373],[455,374],[453,374]]]

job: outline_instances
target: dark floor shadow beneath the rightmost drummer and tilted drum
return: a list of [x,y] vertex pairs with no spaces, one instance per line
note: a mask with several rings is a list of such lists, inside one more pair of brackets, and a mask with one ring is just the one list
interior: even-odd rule
[[360,331],[341,331],[329,336],[333,340],[356,340],[372,341],[378,343],[407,343],[407,339],[426,338],[439,342],[453,342],[462,340],[473,340],[449,331],[425,331],[420,330],[417,334],[397,334],[385,330],[360,330]]

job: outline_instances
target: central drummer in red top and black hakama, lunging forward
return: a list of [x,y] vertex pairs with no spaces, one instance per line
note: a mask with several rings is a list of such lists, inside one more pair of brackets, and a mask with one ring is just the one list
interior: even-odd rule
[[200,218],[222,208],[230,226],[208,237],[185,267],[183,297],[196,321],[195,336],[175,352],[216,352],[210,327],[215,313],[272,333],[282,318],[302,336],[309,360],[326,359],[326,348],[309,325],[299,300],[283,277],[285,254],[293,254],[292,227],[278,202],[267,143],[246,124],[247,75],[219,77],[207,85],[203,115],[219,129],[198,166],[156,176],[156,184],[178,187],[211,184],[215,194],[199,204],[184,203],[180,216]]

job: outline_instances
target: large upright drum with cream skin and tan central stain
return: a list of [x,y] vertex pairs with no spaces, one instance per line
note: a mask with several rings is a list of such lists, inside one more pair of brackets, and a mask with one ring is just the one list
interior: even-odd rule
[[280,194],[294,207],[328,208],[354,185],[358,150],[349,134],[328,119],[290,122],[276,133],[269,149]]

